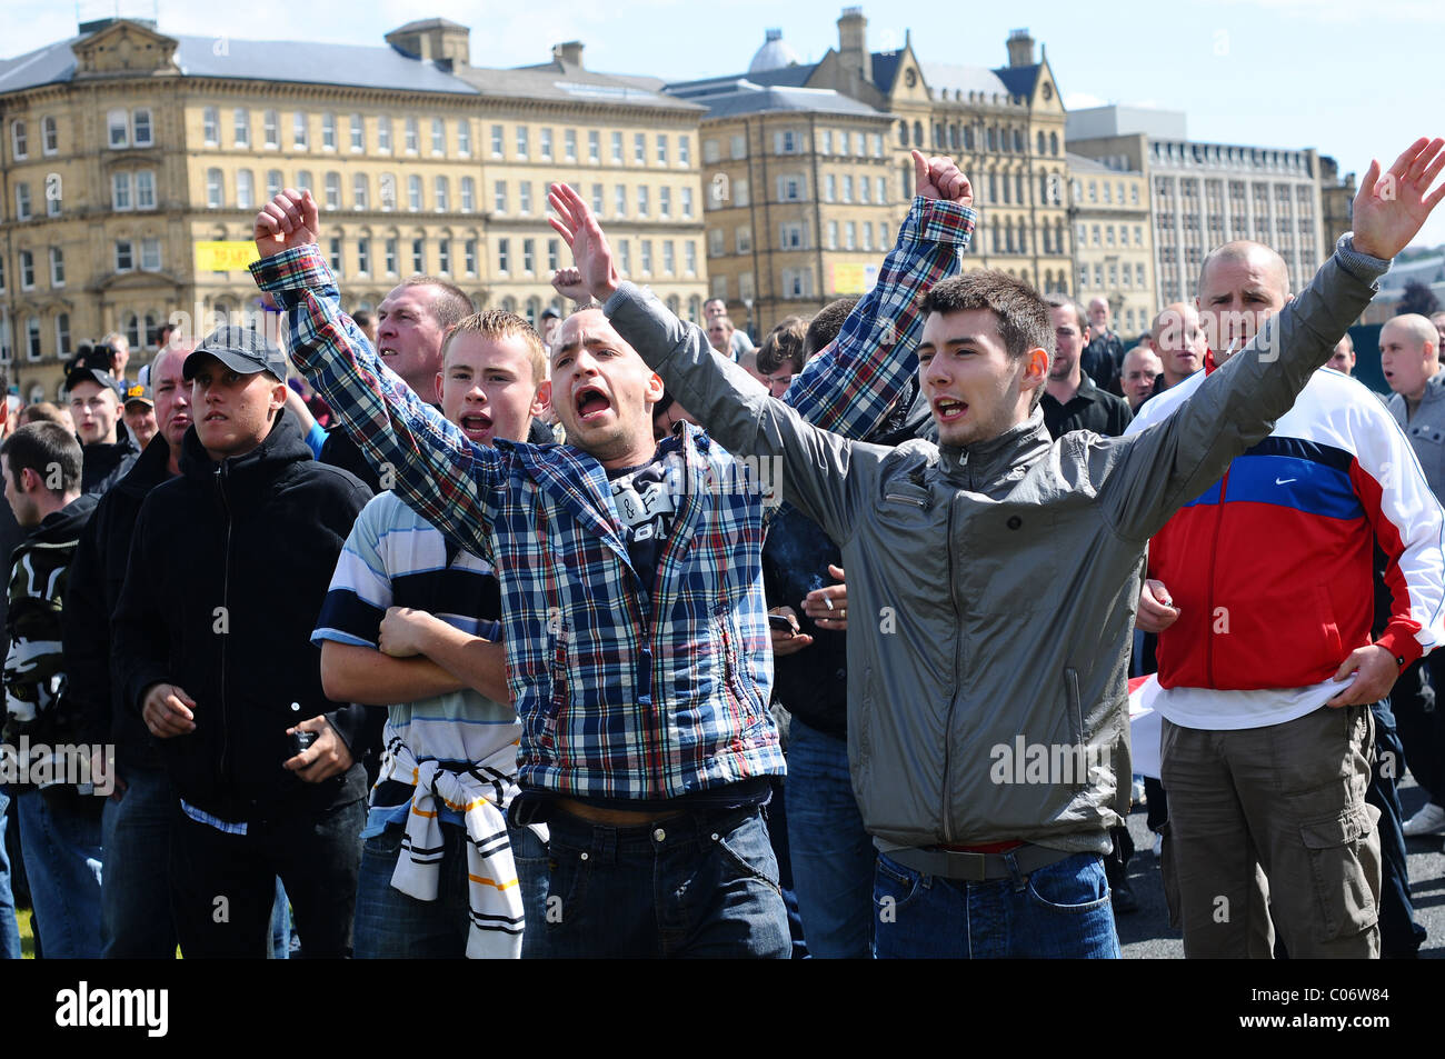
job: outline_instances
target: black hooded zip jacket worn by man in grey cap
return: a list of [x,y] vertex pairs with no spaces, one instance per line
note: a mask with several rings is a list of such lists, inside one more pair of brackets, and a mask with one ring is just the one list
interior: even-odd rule
[[[251,452],[215,464],[195,428],[181,475],[140,507],[111,623],[126,709],[175,683],[195,699],[195,731],[158,740],[176,792],[225,821],[276,819],[366,795],[360,758],[377,708],[321,689],[311,633],[337,558],[370,491],[319,464],[285,412]],[[381,711],[384,712],[384,711]],[[285,770],[286,730],[325,714],[355,764],[312,784]]]

